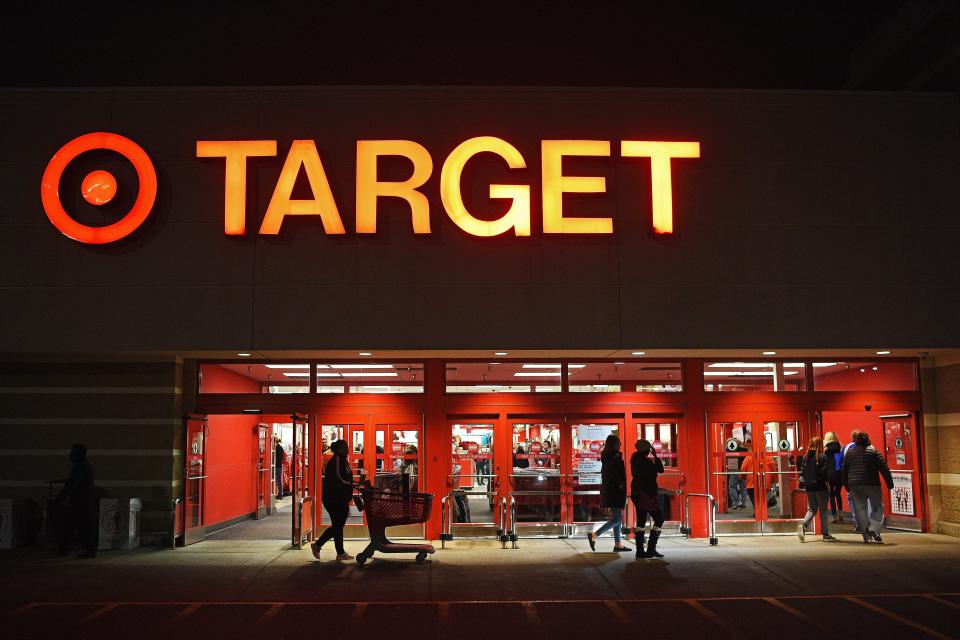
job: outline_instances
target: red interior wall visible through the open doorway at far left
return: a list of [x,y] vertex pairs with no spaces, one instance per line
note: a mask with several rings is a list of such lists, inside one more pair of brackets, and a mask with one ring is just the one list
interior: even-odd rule
[[[259,393],[256,381],[217,365],[203,365],[206,393]],[[253,513],[257,508],[258,416],[211,415],[207,419],[207,483],[203,520],[207,526]]]

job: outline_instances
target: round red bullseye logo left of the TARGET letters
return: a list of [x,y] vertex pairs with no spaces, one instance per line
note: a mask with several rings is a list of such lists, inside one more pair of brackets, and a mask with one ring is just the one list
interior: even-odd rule
[[[60,178],[74,158],[81,153],[107,149],[115,151],[133,164],[140,181],[137,198],[123,218],[104,227],[90,227],[74,220],[60,200]],[[83,199],[94,206],[110,202],[117,193],[117,180],[109,171],[91,171],[81,184]],[[108,244],[126,238],[150,215],[157,198],[157,172],[140,145],[116,133],[88,133],[63,145],[47,164],[40,182],[40,199],[47,217],[63,235],[85,244]]]

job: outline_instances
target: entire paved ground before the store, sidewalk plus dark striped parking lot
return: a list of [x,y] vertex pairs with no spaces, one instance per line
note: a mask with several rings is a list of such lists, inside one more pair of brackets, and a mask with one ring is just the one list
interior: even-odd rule
[[[185,549],[62,560],[0,555],[8,637],[171,633],[418,640],[524,636],[955,637],[960,541],[896,534],[886,544],[795,538],[670,539],[664,560],[591,553],[585,540],[454,541],[432,561],[321,561],[276,542],[211,541]],[[356,553],[361,542],[348,542]],[[839,621],[839,623],[838,623]],[[493,635],[491,635],[493,634]],[[5,634],[6,635],[6,634]]]

